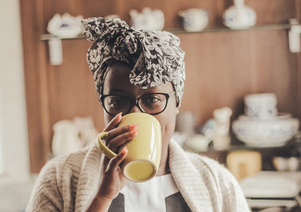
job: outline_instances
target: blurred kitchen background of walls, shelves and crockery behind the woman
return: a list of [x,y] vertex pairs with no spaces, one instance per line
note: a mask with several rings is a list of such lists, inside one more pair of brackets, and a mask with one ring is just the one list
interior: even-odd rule
[[174,139],[225,164],[254,211],[299,211],[300,0],[2,1],[0,211],[24,210],[42,166],[104,128],[86,62],[92,42],[76,30],[81,17],[108,15],[180,38]]

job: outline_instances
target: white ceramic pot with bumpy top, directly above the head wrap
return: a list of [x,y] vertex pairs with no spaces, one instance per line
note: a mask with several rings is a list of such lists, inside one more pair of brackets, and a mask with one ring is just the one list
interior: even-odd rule
[[130,10],[131,25],[136,30],[154,30],[160,31],[164,27],[164,14],[161,10],[143,8],[139,13],[137,10]]

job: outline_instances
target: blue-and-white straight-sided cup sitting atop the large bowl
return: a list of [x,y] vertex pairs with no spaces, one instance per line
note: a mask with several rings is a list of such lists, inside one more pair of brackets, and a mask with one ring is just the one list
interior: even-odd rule
[[249,94],[244,97],[245,115],[260,119],[277,116],[277,98],[275,93]]

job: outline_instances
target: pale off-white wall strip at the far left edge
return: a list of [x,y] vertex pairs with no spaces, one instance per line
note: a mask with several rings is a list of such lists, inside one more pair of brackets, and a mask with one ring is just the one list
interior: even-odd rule
[[29,177],[30,166],[19,0],[0,1],[0,20],[1,182]]

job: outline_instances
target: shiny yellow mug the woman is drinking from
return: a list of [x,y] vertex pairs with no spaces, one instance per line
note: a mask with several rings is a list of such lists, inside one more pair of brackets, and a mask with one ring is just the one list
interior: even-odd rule
[[[152,115],[142,112],[129,113],[122,117],[118,127],[138,124],[137,136],[125,142],[117,150],[118,153],[127,146],[128,154],[120,168],[123,175],[133,182],[145,182],[156,176],[161,158],[161,125]],[[98,148],[108,157],[116,156],[102,140],[105,140],[107,132],[98,134]]]

